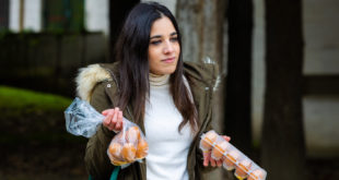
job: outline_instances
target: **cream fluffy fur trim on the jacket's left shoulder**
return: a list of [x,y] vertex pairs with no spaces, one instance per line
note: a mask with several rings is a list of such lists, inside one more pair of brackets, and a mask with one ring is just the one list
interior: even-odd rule
[[77,95],[81,99],[90,101],[94,88],[109,81],[113,81],[113,77],[109,69],[105,64],[91,64],[81,68],[75,77]]

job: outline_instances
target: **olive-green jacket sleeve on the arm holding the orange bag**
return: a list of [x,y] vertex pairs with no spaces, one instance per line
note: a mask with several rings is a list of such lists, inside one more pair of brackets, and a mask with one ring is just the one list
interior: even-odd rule
[[[112,108],[112,103],[105,93],[105,83],[98,83],[93,91],[90,104],[98,111]],[[93,179],[109,179],[114,169],[107,156],[107,148],[115,133],[100,125],[90,139],[85,151],[85,167]]]

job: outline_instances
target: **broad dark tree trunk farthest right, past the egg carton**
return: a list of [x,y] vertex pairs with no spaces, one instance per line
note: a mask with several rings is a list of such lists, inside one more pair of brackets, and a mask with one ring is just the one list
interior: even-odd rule
[[266,95],[261,141],[268,179],[305,179],[301,0],[266,0]]

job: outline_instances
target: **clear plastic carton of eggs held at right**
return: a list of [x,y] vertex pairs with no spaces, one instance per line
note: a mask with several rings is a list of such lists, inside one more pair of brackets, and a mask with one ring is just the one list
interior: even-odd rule
[[202,152],[211,152],[215,160],[222,159],[223,168],[234,170],[237,179],[265,180],[267,172],[260,168],[241,151],[225,141],[215,131],[211,130],[201,135],[200,148]]

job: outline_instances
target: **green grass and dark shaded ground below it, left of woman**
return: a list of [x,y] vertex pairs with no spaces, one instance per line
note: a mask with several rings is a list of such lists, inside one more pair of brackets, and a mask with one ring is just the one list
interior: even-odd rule
[[67,132],[72,99],[0,85],[0,179],[86,179],[87,139]]

